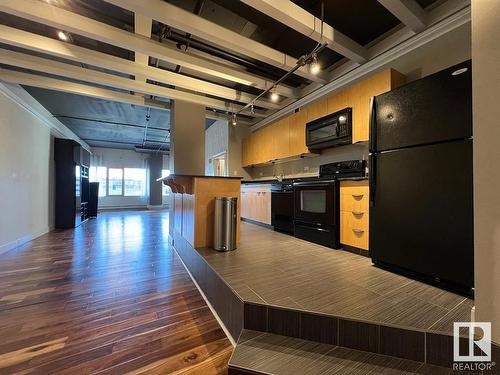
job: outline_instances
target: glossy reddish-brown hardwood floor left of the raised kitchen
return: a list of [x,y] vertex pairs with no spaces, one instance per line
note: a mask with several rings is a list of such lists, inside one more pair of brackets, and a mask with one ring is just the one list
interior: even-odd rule
[[166,212],[110,212],[0,255],[0,374],[226,373],[167,236]]

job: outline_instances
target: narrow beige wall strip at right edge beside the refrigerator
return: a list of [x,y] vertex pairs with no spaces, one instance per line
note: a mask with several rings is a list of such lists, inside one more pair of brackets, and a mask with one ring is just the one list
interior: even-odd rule
[[[500,344],[500,2],[472,2],[476,320]],[[497,363],[497,366],[499,364]]]

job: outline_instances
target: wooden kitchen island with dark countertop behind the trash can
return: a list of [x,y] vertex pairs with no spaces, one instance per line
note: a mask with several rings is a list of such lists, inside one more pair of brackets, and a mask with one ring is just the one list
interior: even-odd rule
[[[180,235],[193,248],[212,247],[214,241],[215,197],[237,197],[240,213],[239,177],[170,175],[158,179],[170,187],[170,237]],[[239,240],[237,223],[236,240]]]

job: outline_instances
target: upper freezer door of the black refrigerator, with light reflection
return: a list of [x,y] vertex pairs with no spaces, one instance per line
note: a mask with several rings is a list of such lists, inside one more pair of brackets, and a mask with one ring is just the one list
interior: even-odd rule
[[372,152],[472,135],[470,61],[376,96],[372,104]]

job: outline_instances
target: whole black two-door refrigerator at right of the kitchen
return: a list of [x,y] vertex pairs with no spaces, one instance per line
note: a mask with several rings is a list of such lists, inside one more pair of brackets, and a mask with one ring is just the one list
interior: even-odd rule
[[372,100],[370,255],[468,295],[474,287],[471,62]]

